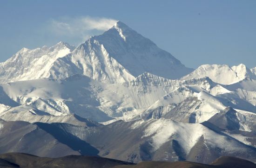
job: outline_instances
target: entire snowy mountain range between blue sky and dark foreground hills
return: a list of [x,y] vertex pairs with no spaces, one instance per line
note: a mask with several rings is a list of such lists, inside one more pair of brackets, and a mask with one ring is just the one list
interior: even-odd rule
[[256,162],[256,68],[187,68],[120,21],[76,48],[23,48],[0,81],[1,154]]

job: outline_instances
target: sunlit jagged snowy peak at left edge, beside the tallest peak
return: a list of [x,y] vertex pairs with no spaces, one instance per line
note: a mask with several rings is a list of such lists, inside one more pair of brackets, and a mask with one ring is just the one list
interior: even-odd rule
[[23,48],[6,62],[0,63],[0,82],[47,78],[54,61],[73,51],[74,46],[64,42],[50,48]]

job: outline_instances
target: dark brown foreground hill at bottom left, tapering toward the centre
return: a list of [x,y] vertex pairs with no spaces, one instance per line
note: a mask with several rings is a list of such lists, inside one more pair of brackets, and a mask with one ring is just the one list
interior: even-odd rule
[[0,155],[0,163],[6,167],[20,168],[114,168],[118,165],[132,165],[95,156],[69,155],[59,158],[38,157],[24,153],[8,153]]

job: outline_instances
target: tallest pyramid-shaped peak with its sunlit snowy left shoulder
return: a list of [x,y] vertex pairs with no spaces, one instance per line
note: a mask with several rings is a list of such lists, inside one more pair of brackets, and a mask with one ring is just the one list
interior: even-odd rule
[[52,78],[67,78],[81,73],[94,80],[114,84],[131,81],[145,71],[176,79],[192,70],[118,21],[108,31],[92,36],[71,54],[56,60],[50,73]]

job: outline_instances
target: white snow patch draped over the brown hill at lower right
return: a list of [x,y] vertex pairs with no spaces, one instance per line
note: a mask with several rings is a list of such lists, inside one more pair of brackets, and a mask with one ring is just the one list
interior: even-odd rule
[[231,140],[233,143],[230,143],[225,136],[220,136],[201,124],[177,123],[172,120],[159,119],[149,124],[145,129],[144,136],[150,135],[154,135],[151,137],[153,151],[159,149],[161,145],[168,142],[169,138],[172,137],[172,139],[179,142],[186,155],[189,155],[192,147],[203,136],[209,148],[220,148],[229,152],[241,149],[246,152],[246,149],[241,148],[239,142]]

